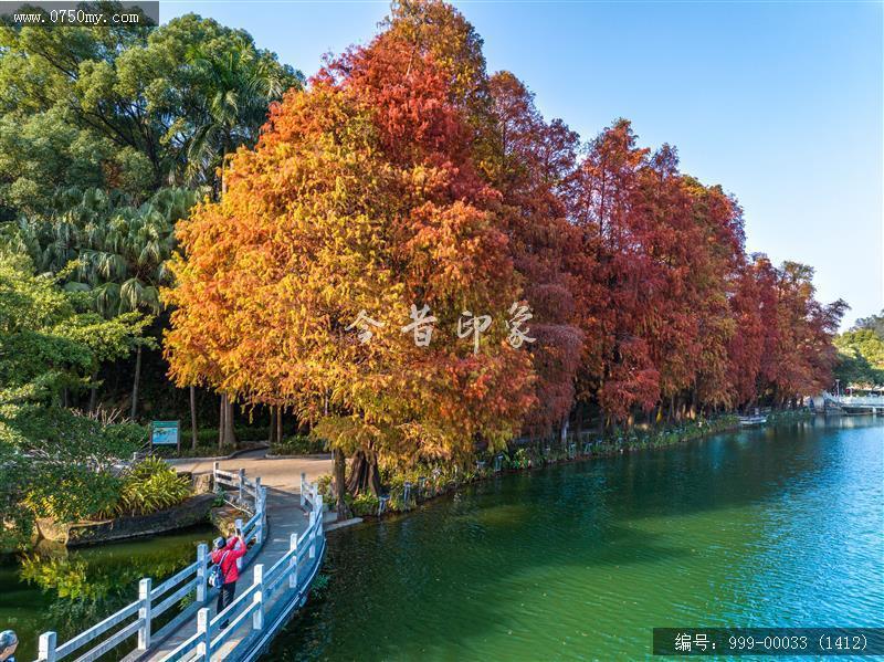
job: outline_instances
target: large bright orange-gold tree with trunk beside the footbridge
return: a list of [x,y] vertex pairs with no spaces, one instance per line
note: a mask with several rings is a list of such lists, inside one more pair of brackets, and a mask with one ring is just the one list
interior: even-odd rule
[[[224,198],[179,227],[173,378],[292,408],[332,443],[338,479],[356,455],[354,493],[379,488],[379,455],[501,448],[534,401],[529,358],[507,343],[520,288],[499,195],[449,96],[430,55],[352,50],[272,109]],[[429,346],[402,330],[412,305],[435,317]],[[457,334],[464,312],[493,321],[478,351]]]

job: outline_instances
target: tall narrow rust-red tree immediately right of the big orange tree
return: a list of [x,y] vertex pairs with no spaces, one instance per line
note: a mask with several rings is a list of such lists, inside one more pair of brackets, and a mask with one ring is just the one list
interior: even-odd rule
[[509,72],[492,76],[488,88],[493,116],[484,169],[502,193],[514,265],[534,314],[537,406],[526,424],[532,433],[554,427],[564,433],[582,349],[582,333],[573,324],[573,280],[567,271],[579,248],[578,232],[562,200],[578,139],[560,120],[544,122],[533,95]]

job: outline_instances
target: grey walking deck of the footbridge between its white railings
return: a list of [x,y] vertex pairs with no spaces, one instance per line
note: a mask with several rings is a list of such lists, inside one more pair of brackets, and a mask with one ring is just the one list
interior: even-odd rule
[[[236,595],[239,595],[243,588],[248,587],[254,581],[254,566],[263,565],[265,568],[273,566],[273,564],[275,564],[288,551],[292,534],[296,534],[298,536],[302,535],[306,530],[307,524],[307,513],[301,508],[299,494],[292,494],[276,488],[267,488],[267,537],[263,547],[261,548],[261,551],[253,558],[248,559],[246,565],[243,566],[243,570],[240,574],[240,580],[236,582]],[[316,561],[319,561],[318,557],[316,558]],[[280,612],[283,607],[287,607],[283,605],[283,602],[285,602],[286,598],[290,596],[283,591],[278,591],[271,597],[265,605],[265,619],[269,622],[273,620],[273,617],[276,614],[276,612]],[[215,616],[215,603],[217,598],[215,592],[213,591],[211,595],[211,605],[209,605],[211,618],[214,618]],[[151,645],[150,650],[136,658],[136,660],[139,662],[159,662],[196,633],[197,620],[194,618],[190,622],[182,624],[164,641]],[[234,630],[234,632],[230,635],[230,639],[212,654],[211,659],[245,659],[242,658],[242,653],[233,656],[233,651],[235,649],[240,649],[240,651],[248,651],[253,647],[259,647],[259,640],[262,638],[257,637],[257,634],[263,633],[264,632],[255,631],[252,627],[252,620],[246,619]],[[254,641],[246,641],[250,639]],[[254,656],[256,658],[259,651],[254,652]]]

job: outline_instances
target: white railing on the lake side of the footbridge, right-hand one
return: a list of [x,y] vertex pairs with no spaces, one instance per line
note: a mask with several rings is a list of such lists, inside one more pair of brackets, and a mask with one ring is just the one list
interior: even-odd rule
[[[243,590],[231,605],[223,611],[210,618],[210,610],[206,607],[197,612],[197,633],[182,641],[178,648],[162,658],[162,662],[188,660],[194,662],[209,662],[212,654],[218,652],[231,639],[239,637],[233,650],[225,651],[224,658],[239,659],[234,651],[240,645],[250,645],[253,638],[236,634],[240,626],[251,620],[251,630],[259,635],[265,628],[273,628],[273,623],[265,623],[270,610],[270,599],[277,596],[284,606],[302,602],[316,572],[319,560],[325,551],[325,534],[323,532],[323,497],[318,494],[315,483],[307,483],[301,474],[301,503],[309,511],[309,524],[298,537],[292,534],[288,551],[283,554],[271,567],[265,570],[263,564],[254,567],[252,584]],[[223,630],[220,624],[228,621]],[[276,621],[278,623],[278,620]]]

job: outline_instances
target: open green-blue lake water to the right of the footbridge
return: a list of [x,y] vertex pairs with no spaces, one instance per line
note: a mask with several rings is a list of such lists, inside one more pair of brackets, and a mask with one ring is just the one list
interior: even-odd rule
[[882,627],[884,419],[501,476],[330,534],[324,571],[265,660],[644,660],[653,627]]

